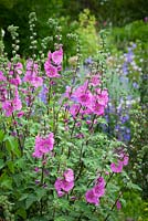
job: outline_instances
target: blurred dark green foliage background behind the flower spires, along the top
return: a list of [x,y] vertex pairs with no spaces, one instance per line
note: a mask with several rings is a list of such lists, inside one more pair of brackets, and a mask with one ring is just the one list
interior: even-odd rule
[[[10,34],[7,28],[10,24],[19,27],[20,33],[20,54],[29,53],[29,13],[35,11],[38,17],[38,38],[44,38],[51,34],[46,21],[49,18],[60,19],[64,27],[64,32],[71,31],[70,24],[73,21],[78,21],[80,13],[84,9],[89,9],[95,15],[95,27],[99,30],[102,27],[123,27],[136,20],[144,20],[147,17],[148,1],[147,0],[1,0],[0,1],[0,28],[6,31],[4,42],[7,51],[10,53]],[[142,21],[141,21],[142,22]],[[138,27],[144,24],[139,24]],[[137,28],[135,30],[137,30]],[[76,29],[74,23],[72,29]],[[145,27],[144,27],[145,29]],[[140,29],[141,30],[141,29]],[[141,32],[138,28],[138,35],[147,39],[146,30]],[[117,31],[118,32],[118,31]],[[124,31],[129,32],[127,28]],[[131,31],[133,32],[133,31]],[[137,38],[137,33],[133,34]],[[116,30],[115,30],[116,36]],[[121,34],[123,36],[123,34]],[[129,36],[129,34],[128,34]],[[67,45],[68,48],[68,45]]]

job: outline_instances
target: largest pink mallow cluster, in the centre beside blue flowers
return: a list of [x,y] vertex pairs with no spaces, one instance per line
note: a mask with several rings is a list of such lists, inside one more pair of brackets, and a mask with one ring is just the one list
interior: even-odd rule
[[[96,88],[99,83],[99,76],[92,76],[91,82],[86,81],[83,85],[76,87],[71,93],[70,87],[66,91],[67,96],[73,104],[70,106],[70,113],[73,117],[76,117],[78,113],[84,115],[95,114],[97,116],[104,115],[105,107],[108,103],[107,90]],[[91,91],[89,85],[94,86]]]

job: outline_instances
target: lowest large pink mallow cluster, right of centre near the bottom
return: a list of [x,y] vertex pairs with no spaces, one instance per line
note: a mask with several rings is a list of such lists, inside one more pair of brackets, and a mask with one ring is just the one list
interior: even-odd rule
[[87,202],[98,206],[99,198],[103,197],[104,193],[105,193],[105,180],[103,177],[99,177],[96,180],[95,186],[86,191],[85,199]]

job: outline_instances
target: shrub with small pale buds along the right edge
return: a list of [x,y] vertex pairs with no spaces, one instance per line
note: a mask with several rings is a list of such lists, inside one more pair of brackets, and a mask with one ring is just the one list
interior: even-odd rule
[[131,139],[131,156],[136,156],[134,160],[131,160],[131,165],[134,166],[133,180],[135,180],[142,188],[142,198],[147,199],[148,191],[148,179],[147,179],[147,156],[148,156],[148,133],[147,133],[147,108],[140,105],[134,106],[130,110],[130,119],[131,119],[131,130],[133,130],[133,139]]

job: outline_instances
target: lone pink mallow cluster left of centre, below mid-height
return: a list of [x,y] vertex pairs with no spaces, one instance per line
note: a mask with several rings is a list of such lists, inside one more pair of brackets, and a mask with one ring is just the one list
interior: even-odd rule
[[53,133],[49,134],[46,138],[42,138],[39,135],[35,137],[35,150],[33,157],[42,158],[44,154],[47,154],[53,150],[54,145],[54,135]]

